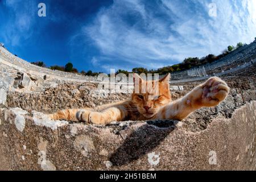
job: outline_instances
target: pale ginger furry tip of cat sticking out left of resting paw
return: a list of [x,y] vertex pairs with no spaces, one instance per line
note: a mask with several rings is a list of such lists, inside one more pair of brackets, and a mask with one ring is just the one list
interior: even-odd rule
[[53,114],[48,114],[48,117],[53,119],[53,120],[66,120],[66,121],[79,121],[76,118],[76,113],[80,109],[65,109],[65,110],[60,110],[57,111],[56,113]]

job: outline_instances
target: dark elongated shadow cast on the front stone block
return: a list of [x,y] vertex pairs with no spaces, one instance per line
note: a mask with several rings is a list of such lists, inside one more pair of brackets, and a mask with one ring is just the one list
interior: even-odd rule
[[[163,122],[163,123],[161,123]],[[148,121],[134,130],[110,156],[113,166],[122,166],[148,154],[174,130],[173,121]]]

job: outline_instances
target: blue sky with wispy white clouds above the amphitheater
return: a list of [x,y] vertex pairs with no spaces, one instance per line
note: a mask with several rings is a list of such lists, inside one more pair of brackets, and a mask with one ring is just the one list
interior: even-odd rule
[[0,0],[0,42],[48,66],[152,69],[252,42],[255,9],[254,0]]

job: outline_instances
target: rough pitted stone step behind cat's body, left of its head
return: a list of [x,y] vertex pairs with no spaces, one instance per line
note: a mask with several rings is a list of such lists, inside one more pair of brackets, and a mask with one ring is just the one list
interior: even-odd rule
[[7,102],[9,107],[52,113],[60,109],[94,107],[130,97],[130,94],[104,95],[94,91],[97,91],[94,84],[60,84],[39,93],[9,92]]

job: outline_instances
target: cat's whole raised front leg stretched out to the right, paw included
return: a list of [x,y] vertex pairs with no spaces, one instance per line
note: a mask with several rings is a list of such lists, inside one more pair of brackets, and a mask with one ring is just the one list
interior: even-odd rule
[[229,87],[221,78],[209,78],[184,97],[162,107],[155,119],[182,120],[201,107],[212,107],[220,104],[228,96],[228,92]]

